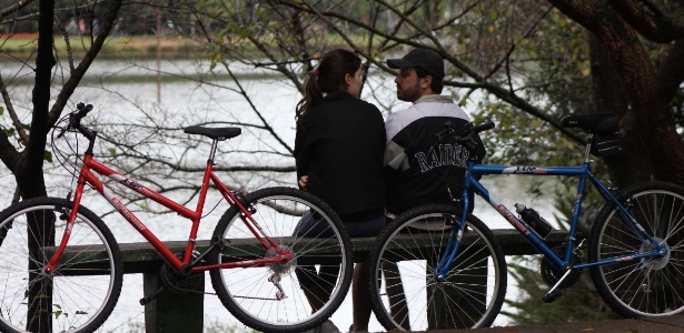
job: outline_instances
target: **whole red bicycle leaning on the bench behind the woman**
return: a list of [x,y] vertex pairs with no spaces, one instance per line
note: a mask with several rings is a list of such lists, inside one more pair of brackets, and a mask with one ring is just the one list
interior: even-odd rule
[[[222,304],[258,331],[300,332],[337,310],[353,271],[351,243],[339,216],[297,189],[267,188],[246,195],[229,190],[212,168],[218,142],[239,135],[239,128],[185,129],[212,140],[197,208],[191,210],[98,162],[92,152],[97,132],[81,124],[92,105],[79,103],[77,109],[62,119],[67,124],[58,134],[76,131],[89,141],[79,158],[73,201],[70,195],[38,198],[0,213],[0,331],[93,332],[111,314],[123,279],[119,245],[105,222],[80,204],[86,185],[157,249],[166,262],[162,282],[172,291],[186,291],[209,271]],[[185,251],[174,253],[96,174],[190,220]],[[198,246],[210,184],[230,208],[208,246]]]

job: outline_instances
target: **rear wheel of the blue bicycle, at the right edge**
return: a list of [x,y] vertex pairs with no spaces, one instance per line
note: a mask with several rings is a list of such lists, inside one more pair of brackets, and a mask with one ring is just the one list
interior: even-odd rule
[[684,188],[664,182],[636,184],[618,194],[632,216],[668,254],[630,260],[650,251],[621,222],[615,203],[601,210],[589,235],[589,262],[627,255],[615,263],[592,266],[592,280],[604,301],[626,317],[661,316],[684,311]]

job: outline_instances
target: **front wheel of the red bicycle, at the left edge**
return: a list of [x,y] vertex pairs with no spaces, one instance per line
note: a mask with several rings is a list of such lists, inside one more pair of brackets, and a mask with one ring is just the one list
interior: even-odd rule
[[[37,198],[0,212],[0,331],[93,332],[111,314],[123,281],[119,246],[88,209],[79,206],[67,251],[51,274],[43,273],[72,208],[63,199]],[[54,233],[29,221],[54,225]],[[46,241],[49,246],[41,246]]]

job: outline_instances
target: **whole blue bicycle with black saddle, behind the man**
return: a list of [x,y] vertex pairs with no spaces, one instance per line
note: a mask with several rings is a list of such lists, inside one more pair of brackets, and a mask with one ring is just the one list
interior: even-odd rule
[[[605,302],[627,317],[662,316],[684,311],[684,188],[647,182],[611,190],[591,172],[591,155],[618,151],[617,118],[573,115],[562,124],[588,133],[582,167],[505,167],[467,162],[464,190],[453,205],[425,205],[397,216],[377,238],[368,265],[374,312],[387,331],[482,327],[492,324],[506,294],[504,252],[492,231],[468,213],[469,193],[488,202],[541,253],[542,276],[553,302],[588,269]],[[493,122],[464,133],[438,133],[468,147]],[[552,228],[536,211],[516,204],[512,212],[489,194],[477,175],[525,174],[578,178],[567,238],[552,248]],[[586,238],[577,223],[591,182],[605,200]],[[587,240],[585,245],[584,240]],[[586,249],[586,251],[582,251]],[[583,253],[587,253],[586,255]]]

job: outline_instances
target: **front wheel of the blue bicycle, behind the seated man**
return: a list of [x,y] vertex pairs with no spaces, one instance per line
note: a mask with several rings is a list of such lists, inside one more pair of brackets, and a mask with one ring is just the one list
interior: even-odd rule
[[367,279],[376,317],[387,331],[489,326],[506,294],[504,251],[492,231],[468,215],[448,276],[435,263],[460,216],[450,205],[424,205],[403,213],[376,239]]

